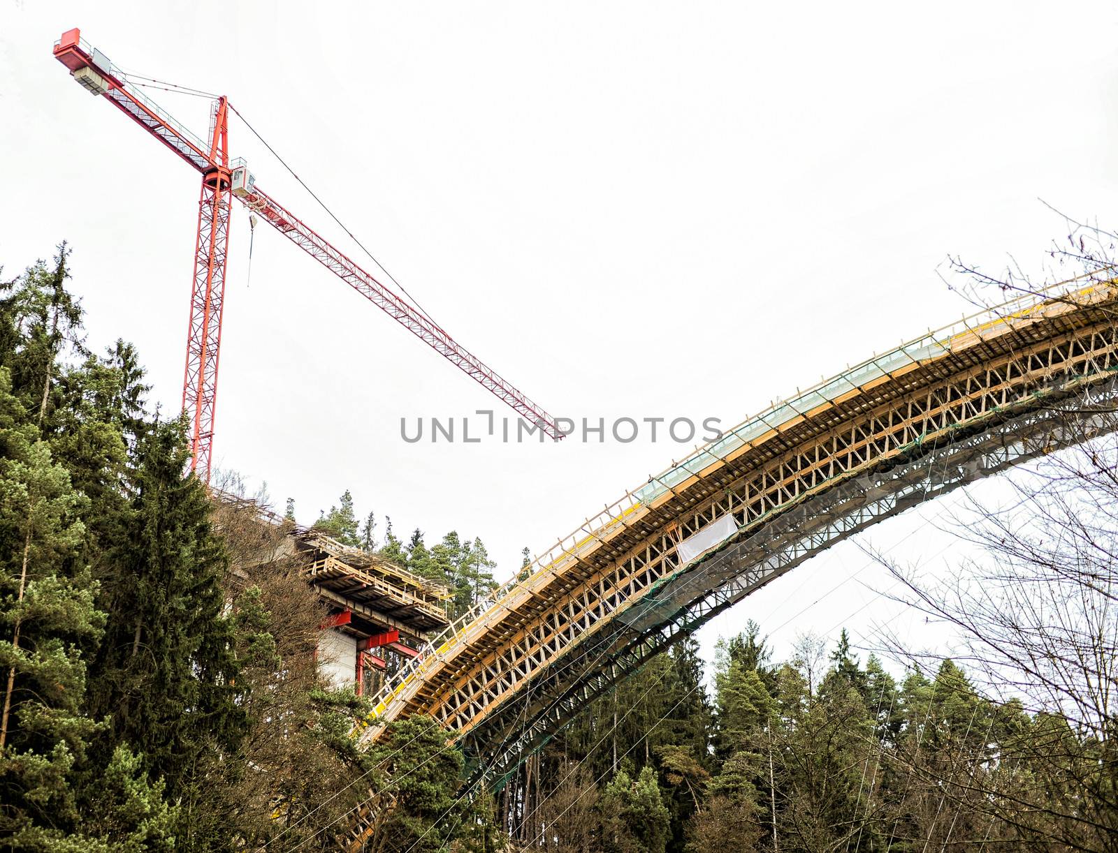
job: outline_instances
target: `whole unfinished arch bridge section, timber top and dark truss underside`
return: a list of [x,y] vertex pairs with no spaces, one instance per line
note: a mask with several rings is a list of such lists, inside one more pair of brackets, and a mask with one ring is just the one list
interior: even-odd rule
[[1112,271],[930,332],[627,491],[432,636],[353,736],[411,713],[500,784],[586,702],[805,559],[1103,428]]

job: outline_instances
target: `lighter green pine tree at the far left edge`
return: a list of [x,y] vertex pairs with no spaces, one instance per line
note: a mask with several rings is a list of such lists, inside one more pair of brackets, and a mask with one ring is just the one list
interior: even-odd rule
[[75,559],[87,501],[38,433],[0,367],[0,834],[17,850],[61,843],[77,823],[69,777],[97,729],[84,658],[105,622]]

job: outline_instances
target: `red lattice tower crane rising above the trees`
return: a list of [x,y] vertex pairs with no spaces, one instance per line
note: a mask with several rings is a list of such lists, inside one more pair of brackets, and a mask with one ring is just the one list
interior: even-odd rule
[[83,88],[116,106],[201,175],[182,380],[182,409],[190,426],[190,470],[200,478],[208,481],[210,476],[229,215],[234,198],[508,403],[521,418],[552,439],[562,438],[555,419],[543,409],[455,342],[424,312],[377,280],[264,192],[243,159],[230,160],[229,111],[233,107],[226,96],[218,97],[214,103],[209,134],[202,138],[148,97],[108,57],[91,47],[78,29],[61,35],[55,42],[54,55]]

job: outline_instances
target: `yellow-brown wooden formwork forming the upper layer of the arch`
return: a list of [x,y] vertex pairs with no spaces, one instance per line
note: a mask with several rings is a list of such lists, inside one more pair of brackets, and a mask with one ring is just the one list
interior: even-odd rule
[[676,545],[720,518],[731,516],[739,531],[729,545],[850,478],[919,454],[921,444],[1042,406],[1057,386],[1110,376],[1116,297],[1115,282],[1098,282],[966,327],[936,342],[932,355],[891,366],[688,471],[434,650],[387,697],[380,721],[425,712],[468,734],[679,572]]

